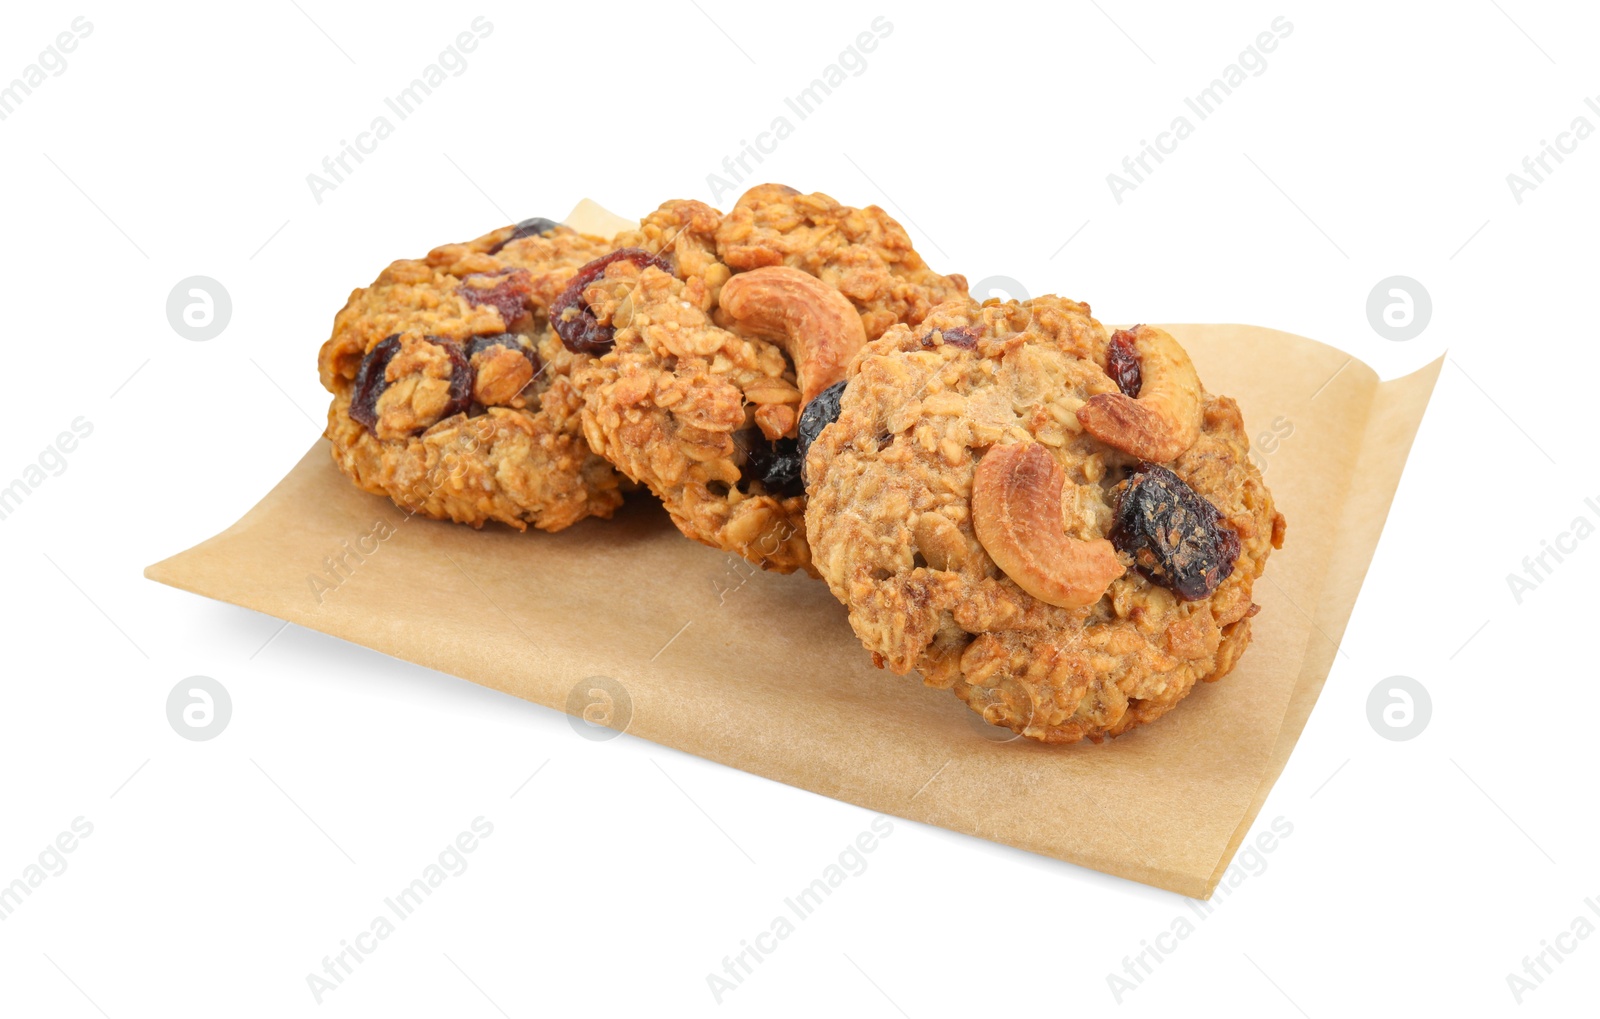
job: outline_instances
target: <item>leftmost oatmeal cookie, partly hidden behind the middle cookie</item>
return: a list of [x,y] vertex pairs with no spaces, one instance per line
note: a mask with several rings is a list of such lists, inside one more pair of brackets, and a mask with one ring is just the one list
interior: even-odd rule
[[402,259],[350,294],[318,357],[333,459],[410,513],[558,531],[610,517],[547,309],[611,242],[547,219]]

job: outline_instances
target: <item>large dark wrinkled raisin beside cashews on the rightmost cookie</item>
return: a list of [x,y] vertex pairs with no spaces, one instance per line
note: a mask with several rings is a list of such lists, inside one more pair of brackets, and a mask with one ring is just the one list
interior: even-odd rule
[[1182,478],[1144,464],[1123,485],[1110,541],[1152,584],[1184,601],[1205,598],[1234,573],[1238,533]]

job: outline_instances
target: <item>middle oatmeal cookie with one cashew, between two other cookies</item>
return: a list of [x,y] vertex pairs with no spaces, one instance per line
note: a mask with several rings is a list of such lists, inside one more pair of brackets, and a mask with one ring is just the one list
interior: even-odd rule
[[[779,573],[811,571],[805,406],[861,344],[963,294],[882,210],[763,186],[723,218],[667,202],[552,307],[589,445],[650,486],[686,536]],[[869,326],[872,323],[872,326]]]

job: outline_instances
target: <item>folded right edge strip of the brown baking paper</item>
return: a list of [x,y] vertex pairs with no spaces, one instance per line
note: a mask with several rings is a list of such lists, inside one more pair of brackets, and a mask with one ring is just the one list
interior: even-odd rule
[[[1357,360],[1355,363],[1362,362]],[[1350,616],[1355,614],[1355,603],[1360,601],[1362,590],[1366,587],[1366,573],[1371,569],[1373,560],[1378,558],[1378,545],[1382,542],[1382,533],[1389,523],[1389,513],[1394,509],[1395,494],[1400,491],[1405,467],[1411,462],[1411,448],[1416,445],[1418,432],[1422,430],[1422,421],[1427,418],[1427,408],[1434,400],[1434,389],[1438,384],[1438,374],[1443,368],[1445,355],[1442,354],[1410,374],[1379,381],[1373,392],[1373,400],[1366,411],[1366,427],[1362,432],[1362,446],[1350,467],[1350,478],[1346,483],[1344,509],[1339,513],[1339,539],[1334,542],[1333,553],[1328,557],[1328,568],[1322,579],[1322,592],[1326,592],[1334,574],[1339,569],[1346,569],[1349,571],[1349,576],[1354,577],[1354,593],[1347,605],[1331,605],[1326,598],[1323,598],[1322,592],[1318,592],[1317,608],[1312,616],[1317,625],[1314,625],[1312,632],[1307,635],[1307,649],[1301,657],[1301,673],[1294,681],[1293,693],[1290,694],[1288,709],[1283,712],[1283,725],[1278,728],[1278,739],[1272,745],[1267,774],[1262,776],[1261,785],[1256,789],[1256,795],[1251,798],[1250,808],[1246,808],[1245,816],[1234,830],[1234,837],[1229,838],[1227,848],[1222,851],[1216,869],[1211,872],[1211,878],[1205,885],[1203,894],[1200,896],[1202,899],[1210,899],[1218,885],[1222,881],[1222,875],[1227,872],[1229,865],[1232,865],[1234,856],[1245,843],[1245,837],[1256,824],[1261,808],[1266,806],[1267,797],[1272,793],[1274,785],[1277,785],[1278,777],[1282,777],[1283,769],[1288,766],[1290,757],[1299,744],[1299,737],[1306,731],[1306,725],[1310,721],[1310,713],[1317,707],[1317,701],[1322,699],[1322,688],[1328,680],[1328,673],[1333,670],[1333,659],[1338,654],[1338,645],[1317,641],[1317,630],[1322,629],[1334,641],[1344,640],[1344,630],[1349,627]],[[1362,467],[1370,464],[1371,459],[1371,438],[1374,435],[1374,429],[1394,424],[1394,406],[1384,406],[1386,398],[1390,403],[1397,402],[1402,394],[1413,392],[1413,387],[1426,389],[1421,392],[1421,406],[1418,410],[1416,421],[1411,424],[1410,434],[1405,437],[1405,448],[1395,459],[1392,477],[1389,472],[1363,472]],[[1365,485],[1358,485],[1358,482],[1363,480]],[[1350,506],[1357,501],[1357,493],[1366,496],[1366,499],[1362,501],[1382,496],[1382,515],[1365,526],[1362,526],[1358,520],[1350,520]],[[1352,555],[1349,550],[1352,547],[1360,549],[1366,534],[1371,536],[1371,552],[1365,557],[1358,553]]]

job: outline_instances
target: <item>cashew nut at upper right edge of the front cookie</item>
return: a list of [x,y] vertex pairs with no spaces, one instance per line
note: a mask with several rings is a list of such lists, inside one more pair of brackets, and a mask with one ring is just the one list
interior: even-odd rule
[[1141,325],[1133,342],[1144,374],[1139,397],[1096,394],[1078,408],[1078,424],[1107,446],[1170,462],[1200,438],[1200,376],[1171,333]]

